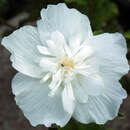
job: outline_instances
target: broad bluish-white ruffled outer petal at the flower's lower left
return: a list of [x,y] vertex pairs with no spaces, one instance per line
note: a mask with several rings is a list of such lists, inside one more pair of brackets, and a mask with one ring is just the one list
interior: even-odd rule
[[56,123],[63,127],[71,115],[64,111],[60,95],[48,96],[47,84],[39,80],[16,74],[12,82],[13,93],[17,105],[33,126],[44,124],[50,127]]

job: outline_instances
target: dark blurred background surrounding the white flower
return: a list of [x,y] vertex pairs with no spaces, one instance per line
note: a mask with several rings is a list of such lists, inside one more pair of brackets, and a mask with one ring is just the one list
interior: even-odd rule
[[[23,25],[35,25],[41,8],[48,4],[66,2],[89,16],[95,34],[121,32],[127,45],[130,59],[130,0],[0,0],[0,41],[3,36]],[[33,128],[14,102],[11,80],[16,71],[11,67],[9,52],[0,45],[0,130],[47,130],[44,126]],[[130,74],[121,79],[130,93]],[[120,112],[126,118],[115,119],[107,124],[107,130],[130,130],[130,96],[124,101]]]

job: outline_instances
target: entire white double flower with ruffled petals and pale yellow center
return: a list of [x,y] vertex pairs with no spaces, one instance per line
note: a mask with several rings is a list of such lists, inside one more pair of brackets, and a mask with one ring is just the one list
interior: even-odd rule
[[18,106],[33,126],[104,124],[127,97],[119,79],[128,73],[119,33],[94,36],[87,16],[65,4],[42,9],[37,27],[25,26],[2,45],[19,71],[12,81]]

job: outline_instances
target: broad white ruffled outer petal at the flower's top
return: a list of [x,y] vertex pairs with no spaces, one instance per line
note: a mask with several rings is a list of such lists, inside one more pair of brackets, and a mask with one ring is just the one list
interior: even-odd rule
[[65,4],[48,5],[47,9],[41,10],[41,17],[43,23],[41,21],[38,22],[41,39],[43,39],[42,35],[44,33],[56,30],[65,36],[68,43],[69,40],[72,41],[72,37],[80,37],[84,41],[92,36],[88,17],[76,9],[67,8]]

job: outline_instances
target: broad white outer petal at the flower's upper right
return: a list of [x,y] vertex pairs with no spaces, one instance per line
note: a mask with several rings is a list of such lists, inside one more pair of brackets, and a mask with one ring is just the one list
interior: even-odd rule
[[119,80],[128,73],[126,41],[121,34],[105,33],[94,36],[89,45],[95,49],[96,62],[100,65],[103,77]]

